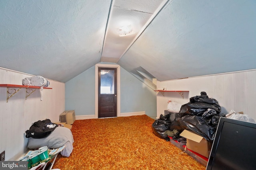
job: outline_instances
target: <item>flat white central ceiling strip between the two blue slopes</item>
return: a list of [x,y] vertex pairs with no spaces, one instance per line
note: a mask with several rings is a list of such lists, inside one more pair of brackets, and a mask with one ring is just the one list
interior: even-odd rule
[[[117,63],[147,22],[159,12],[158,7],[165,3],[166,0],[115,0],[108,20],[101,61]],[[131,33],[120,37],[119,30],[129,25]]]

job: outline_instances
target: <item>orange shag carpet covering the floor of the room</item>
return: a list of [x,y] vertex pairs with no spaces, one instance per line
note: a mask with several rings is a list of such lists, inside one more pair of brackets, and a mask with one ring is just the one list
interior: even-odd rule
[[74,150],[58,155],[61,170],[205,170],[205,166],[152,132],[147,115],[76,120]]

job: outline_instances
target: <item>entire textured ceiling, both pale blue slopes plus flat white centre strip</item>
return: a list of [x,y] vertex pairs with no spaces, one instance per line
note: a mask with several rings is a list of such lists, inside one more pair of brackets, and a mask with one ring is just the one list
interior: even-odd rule
[[[254,0],[1,0],[0,67],[67,82],[99,62],[141,79],[256,68]],[[121,21],[132,33],[120,37]]]

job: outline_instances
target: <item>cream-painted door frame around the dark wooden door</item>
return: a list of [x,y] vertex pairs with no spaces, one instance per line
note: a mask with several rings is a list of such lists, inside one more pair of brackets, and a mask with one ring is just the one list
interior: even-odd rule
[[120,117],[120,65],[118,64],[96,64],[95,65],[95,118],[98,119],[98,70],[99,67],[116,68],[116,116]]

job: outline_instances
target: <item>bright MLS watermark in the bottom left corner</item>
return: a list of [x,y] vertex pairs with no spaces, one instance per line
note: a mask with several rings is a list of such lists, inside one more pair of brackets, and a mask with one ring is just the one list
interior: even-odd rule
[[0,170],[27,170],[27,161],[0,161]]

